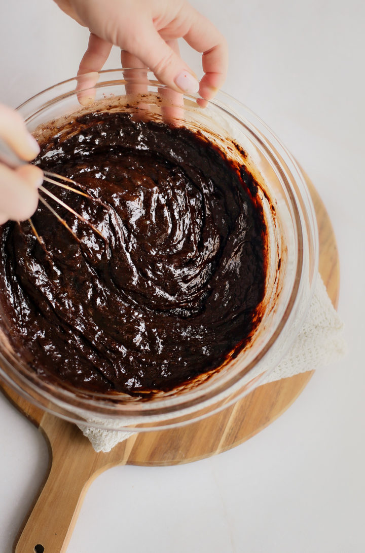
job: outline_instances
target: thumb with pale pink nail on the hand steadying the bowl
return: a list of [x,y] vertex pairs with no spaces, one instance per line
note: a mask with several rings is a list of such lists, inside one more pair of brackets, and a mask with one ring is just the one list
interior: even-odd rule
[[199,81],[193,71],[161,38],[153,25],[139,28],[137,40],[133,33],[128,38],[124,48],[147,65],[162,84],[178,92],[198,92]]

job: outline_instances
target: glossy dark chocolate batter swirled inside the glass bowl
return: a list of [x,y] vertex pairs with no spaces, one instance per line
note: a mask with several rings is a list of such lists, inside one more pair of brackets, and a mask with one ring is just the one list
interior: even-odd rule
[[41,192],[77,239],[43,204],[32,217],[40,241],[29,222],[2,229],[3,325],[34,371],[146,395],[241,351],[266,267],[244,166],[186,128],[100,112],[66,124],[37,163],[93,199],[45,184],[85,223]]

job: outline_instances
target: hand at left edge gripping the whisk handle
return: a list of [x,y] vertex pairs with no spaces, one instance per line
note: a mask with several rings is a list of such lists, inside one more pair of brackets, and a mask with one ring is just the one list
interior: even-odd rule
[[[14,150],[20,159],[31,161],[39,146],[25,127],[19,113],[0,105],[0,139]],[[38,186],[43,172],[34,165],[24,164],[10,169],[0,161],[0,225],[13,219],[24,221],[32,216],[38,205]]]

